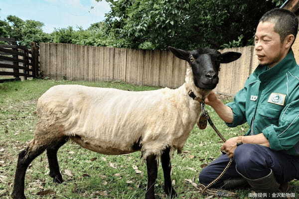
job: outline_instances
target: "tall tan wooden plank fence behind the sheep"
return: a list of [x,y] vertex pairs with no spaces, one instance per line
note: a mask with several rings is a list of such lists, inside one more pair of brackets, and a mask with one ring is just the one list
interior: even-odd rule
[[[258,64],[253,46],[224,49],[242,53],[240,59],[222,64],[215,91],[234,95]],[[123,81],[136,85],[177,88],[184,83],[187,62],[171,52],[40,44],[40,70],[51,79],[82,81]]]

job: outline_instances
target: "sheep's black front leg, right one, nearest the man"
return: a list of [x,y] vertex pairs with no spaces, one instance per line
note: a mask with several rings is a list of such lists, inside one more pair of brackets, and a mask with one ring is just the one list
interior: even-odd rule
[[170,148],[168,147],[162,152],[161,163],[162,163],[163,174],[164,174],[164,191],[170,198],[174,198],[177,196],[177,194],[171,185],[171,178],[170,178],[171,163],[170,163],[169,151]]

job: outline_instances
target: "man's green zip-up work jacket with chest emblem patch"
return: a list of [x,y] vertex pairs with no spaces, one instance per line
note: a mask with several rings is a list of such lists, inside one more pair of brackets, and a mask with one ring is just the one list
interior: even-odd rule
[[268,70],[259,65],[233,102],[230,127],[248,122],[245,135],[263,133],[270,148],[299,155],[299,65],[291,50],[276,66]]

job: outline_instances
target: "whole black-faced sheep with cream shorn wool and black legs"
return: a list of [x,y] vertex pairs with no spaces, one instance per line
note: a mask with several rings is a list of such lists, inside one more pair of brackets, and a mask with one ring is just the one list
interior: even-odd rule
[[177,89],[131,92],[58,85],[46,91],[37,102],[39,120],[34,138],[18,155],[12,198],[25,199],[26,169],[45,150],[50,177],[55,183],[63,182],[57,151],[69,139],[101,154],[141,151],[148,170],[146,199],[154,199],[160,158],[164,191],[170,198],[176,197],[170,179],[170,157],[174,150],[181,151],[199,117],[198,99],[203,100],[218,84],[220,63],[237,60],[241,53],[221,54],[209,48],[168,49],[189,63],[185,83]]

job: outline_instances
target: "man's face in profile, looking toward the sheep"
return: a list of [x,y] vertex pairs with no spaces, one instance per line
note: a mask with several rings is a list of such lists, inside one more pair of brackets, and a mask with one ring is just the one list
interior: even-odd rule
[[287,49],[280,40],[280,35],[274,31],[275,24],[261,21],[255,34],[255,52],[261,65],[270,68],[280,62],[286,55]]

